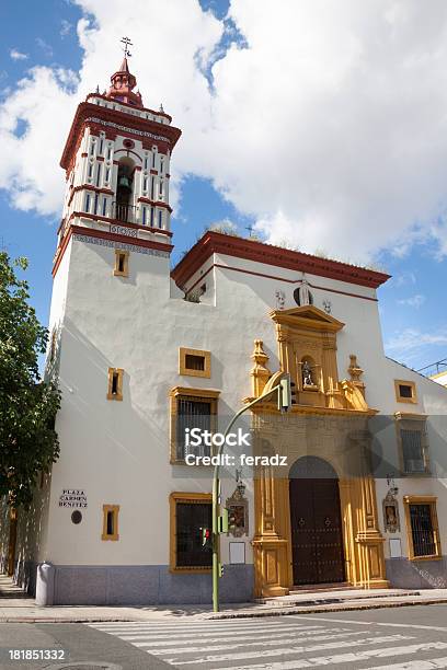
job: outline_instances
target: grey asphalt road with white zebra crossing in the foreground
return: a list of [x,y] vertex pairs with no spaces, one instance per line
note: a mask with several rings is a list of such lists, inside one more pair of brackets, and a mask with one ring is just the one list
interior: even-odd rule
[[[11,660],[12,649],[66,650]],[[222,621],[0,624],[0,668],[65,670],[447,668],[447,605]]]

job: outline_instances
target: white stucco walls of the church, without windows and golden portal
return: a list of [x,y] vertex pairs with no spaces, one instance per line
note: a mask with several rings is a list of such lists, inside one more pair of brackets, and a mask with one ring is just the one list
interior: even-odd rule
[[[230,417],[243,398],[253,396],[254,340],[262,340],[270,372],[280,369],[272,312],[298,308],[296,291],[303,280],[311,292],[313,317],[342,324],[336,333],[339,380],[349,380],[352,355],[363,371],[365,417],[370,418],[376,437],[373,451],[380,452],[381,459],[376,459],[371,472],[387,579],[391,586],[445,586],[446,562],[440,547],[447,546],[447,389],[385,356],[376,289],[387,277],[220,233],[205,233],[171,276],[169,162],[180,131],[174,128],[169,135],[167,129],[173,128],[170,117],[142,106],[133,109],[94,95],[83,105],[88,107],[78,113],[62,160],[67,197],[49,320],[55,349],[48,357],[47,373],[58,376],[62,392],[56,423],[60,458],[38,494],[43,500],[38,540],[25,551],[21,531],[18,547],[19,561],[27,562],[32,570],[50,564],[54,586],[48,602],[209,600],[207,571],[176,571],[172,566],[175,534],[171,494],[211,490],[210,467],[173,462],[172,391],[215,391],[219,417]],[[101,123],[93,105],[101,111]],[[129,174],[118,175],[121,165],[133,170],[131,193],[125,205],[131,210],[126,209],[130,212],[127,218],[117,219],[113,207],[118,176]],[[151,181],[157,201],[150,193]],[[121,252],[126,252],[128,266],[125,274],[117,275]],[[306,304],[300,305],[298,316],[306,316],[303,308]],[[182,373],[181,348],[209,353],[209,377]],[[119,402],[107,397],[111,369],[123,371]],[[313,374],[320,379],[317,368]],[[399,381],[411,386],[411,398],[399,396]],[[330,395],[326,389],[319,392]],[[357,416],[358,407],[348,403],[341,388],[336,393],[344,403],[340,405],[343,417],[349,412]],[[336,417],[336,405],[330,402],[324,412],[316,404],[314,414]],[[299,406],[295,411],[299,414]],[[302,412],[309,414],[309,404],[302,405]],[[413,415],[425,420],[429,467],[417,476],[401,476],[397,426],[400,420],[415,420]],[[379,419],[382,424],[375,424]],[[312,454],[324,455],[318,449]],[[234,469],[227,474],[222,500],[236,486]],[[248,534],[221,538],[222,563],[228,567],[222,592],[232,601],[253,593],[252,541],[257,521],[250,469],[244,469],[242,478]],[[391,481],[398,488],[393,497],[400,528],[389,531],[382,500]],[[79,523],[71,520],[73,508],[60,506],[67,490],[82,492],[87,498],[87,507],[79,509]],[[439,552],[433,561],[424,559],[423,567],[409,559],[412,531],[404,511],[411,504],[409,496],[436,498]],[[115,541],[103,538],[103,508],[107,505],[119,507],[119,536]],[[400,548],[394,542],[391,551],[390,540],[399,540]],[[245,545],[242,565],[231,565],[229,543],[236,541]]]

